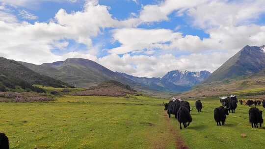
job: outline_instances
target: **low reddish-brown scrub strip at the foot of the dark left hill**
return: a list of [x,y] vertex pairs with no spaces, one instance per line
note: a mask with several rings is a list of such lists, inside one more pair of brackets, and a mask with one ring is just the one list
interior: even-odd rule
[[53,101],[54,99],[46,97],[35,92],[0,92],[0,102],[43,102]]

